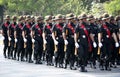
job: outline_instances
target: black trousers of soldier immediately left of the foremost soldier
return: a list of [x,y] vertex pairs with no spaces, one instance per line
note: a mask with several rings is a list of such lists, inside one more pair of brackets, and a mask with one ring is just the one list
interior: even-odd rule
[[75,62],[75,42],[74,42],[74,38],[69,37],[68,39],[68,45],[67,45],[67,49],[65,51],[65,66],[67,66],[67,64],[70,64],[70,67],[74,66],[74,62]]

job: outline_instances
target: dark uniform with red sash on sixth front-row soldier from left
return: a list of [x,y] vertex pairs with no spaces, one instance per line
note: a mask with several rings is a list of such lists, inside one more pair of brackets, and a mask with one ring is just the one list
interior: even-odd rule
[[46,60],[47,65],[53,65],[53,56],[54,56],[54,41],[52,39],[52,23],[44,26],[43,31],[45,33],[46,44]]

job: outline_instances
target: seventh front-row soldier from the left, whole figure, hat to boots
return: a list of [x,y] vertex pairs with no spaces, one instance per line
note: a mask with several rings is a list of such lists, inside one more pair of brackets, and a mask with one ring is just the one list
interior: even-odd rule
[[55,44],[55,67],[59,63],[59,67],[63,68],[64,59],[64,40],[62,37],[63,23],[62,15],[58,14],[55,17],[56,24],[52,28],[52,38]]

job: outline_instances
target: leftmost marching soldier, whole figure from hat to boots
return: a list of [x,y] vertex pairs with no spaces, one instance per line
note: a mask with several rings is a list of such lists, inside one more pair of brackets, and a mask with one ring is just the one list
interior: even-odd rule
[[[9,52],[10,52],[10,47],[8,45],[9,40],[8,40],[8,27],[10,25],[10,16],[6,15],[5,17],[5,22],[2,24],[2,36],[3,36],[3,43],[4,43],[4,48],[3,48],[3,55],[5,58],[9,57]],[[7,49],[8,49],[8,54],[7,54]]]

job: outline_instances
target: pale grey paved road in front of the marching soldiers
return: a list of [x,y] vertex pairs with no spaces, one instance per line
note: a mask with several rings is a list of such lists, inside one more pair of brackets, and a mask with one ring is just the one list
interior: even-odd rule
[[[0,42],[0,44],[2,44]],[[55,68],[53,66],[35,65],[5,59],[2,55],[3,45],[0,45],[0,77],[120,77],[120,66],[112,71],[100,71],[87,66],[88,72]]]

